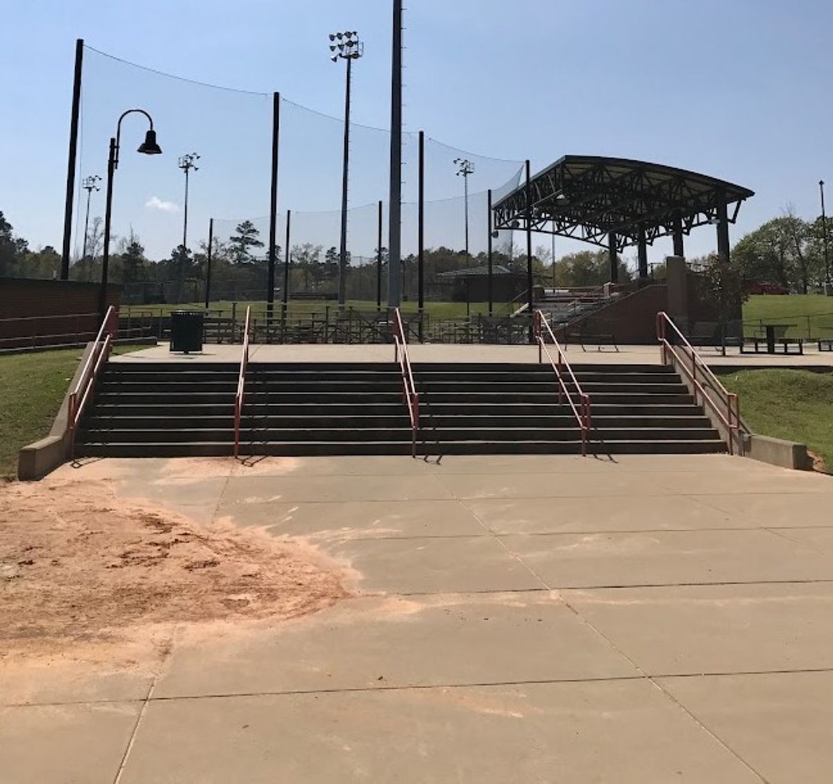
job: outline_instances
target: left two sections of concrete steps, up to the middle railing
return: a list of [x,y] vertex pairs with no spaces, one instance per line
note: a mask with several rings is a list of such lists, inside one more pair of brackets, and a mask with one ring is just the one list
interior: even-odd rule
[[[237,364],[108,362],[78,456],[230,455]],[[411,454],[393,362],[250,363],[242,455]]]

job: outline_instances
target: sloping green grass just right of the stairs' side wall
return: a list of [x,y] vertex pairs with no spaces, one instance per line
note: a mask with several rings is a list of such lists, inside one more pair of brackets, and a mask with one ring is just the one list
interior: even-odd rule
[[721,375],[752,432],[805,443],[833,472],[833,373],[744,370]]

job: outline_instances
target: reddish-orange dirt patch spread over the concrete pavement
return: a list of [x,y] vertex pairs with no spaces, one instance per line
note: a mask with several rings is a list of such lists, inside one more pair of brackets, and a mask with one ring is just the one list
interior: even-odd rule
[[308,546],[200,526],[110,482],[0,486],[0,658],[123,641],[128,627],[298,617],[346,595]]

